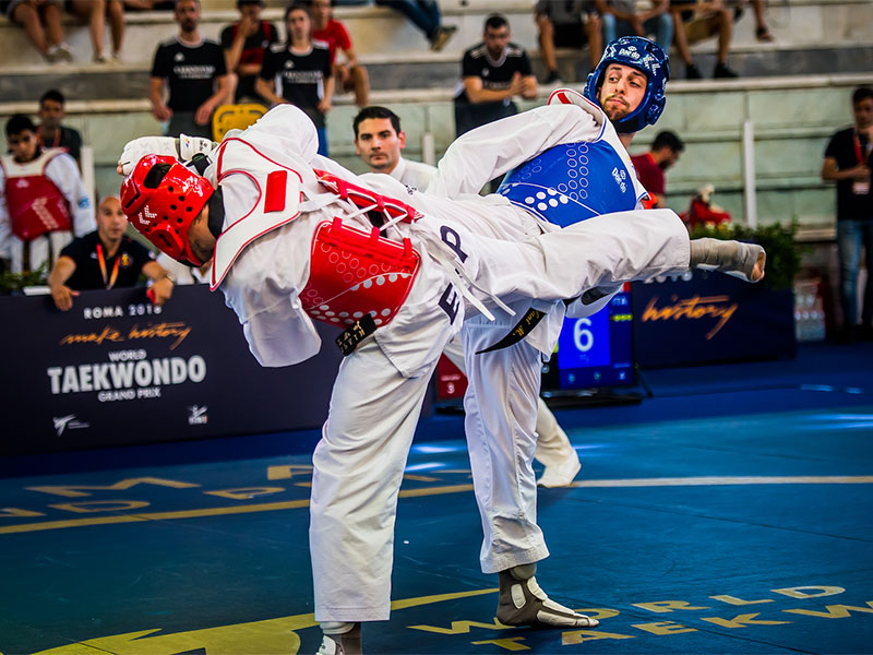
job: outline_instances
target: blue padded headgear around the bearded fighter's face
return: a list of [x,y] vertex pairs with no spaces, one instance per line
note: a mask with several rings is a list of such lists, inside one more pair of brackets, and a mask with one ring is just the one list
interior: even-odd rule
[[610,63],[629,66],[644,73],[647,79],[646,94],[639,106],[620,121],[612,124],[617,132],[637,132],[654,126],[667,104],[665,91],[670,79],[667,53],[658,44],[642,36],[622,36],[610,41],[603,50],[600,63],[588,75],[583,95],[600,107],[597,95],[603,83],[603,73]]

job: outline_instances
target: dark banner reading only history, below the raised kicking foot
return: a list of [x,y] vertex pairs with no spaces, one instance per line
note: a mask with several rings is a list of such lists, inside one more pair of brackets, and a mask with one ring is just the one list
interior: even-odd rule
[[791,289],[695,271],[633,285],[636,359],[644,368],[791,358]]

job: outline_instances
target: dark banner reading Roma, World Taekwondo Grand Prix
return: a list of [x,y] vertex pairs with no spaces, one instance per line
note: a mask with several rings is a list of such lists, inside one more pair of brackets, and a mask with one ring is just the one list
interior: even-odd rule
[[141,287],[83,291],[68,312],[49,296],[0,307],[0,454],[318,428],[342,359],[338,331],[316,323],[316,357],[262,368],[205,285],[163,308]]

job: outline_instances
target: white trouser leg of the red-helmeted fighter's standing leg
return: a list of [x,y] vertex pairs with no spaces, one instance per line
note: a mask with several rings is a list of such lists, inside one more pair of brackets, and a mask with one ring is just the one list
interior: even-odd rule
[[372,338],[343,359],[312,457],[316,621],[388,618],[397,493],[435,364],[404,378]]

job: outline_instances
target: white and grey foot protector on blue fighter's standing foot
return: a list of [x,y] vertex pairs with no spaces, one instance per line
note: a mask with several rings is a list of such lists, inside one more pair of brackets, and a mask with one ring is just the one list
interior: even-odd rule
[[[516,567],[515,570],[517,570]],[[514,569],[500,572],[498,620],[504,626],[531,628],[596,628],[600,621],[550,599],[533,575],[518,580]]]

